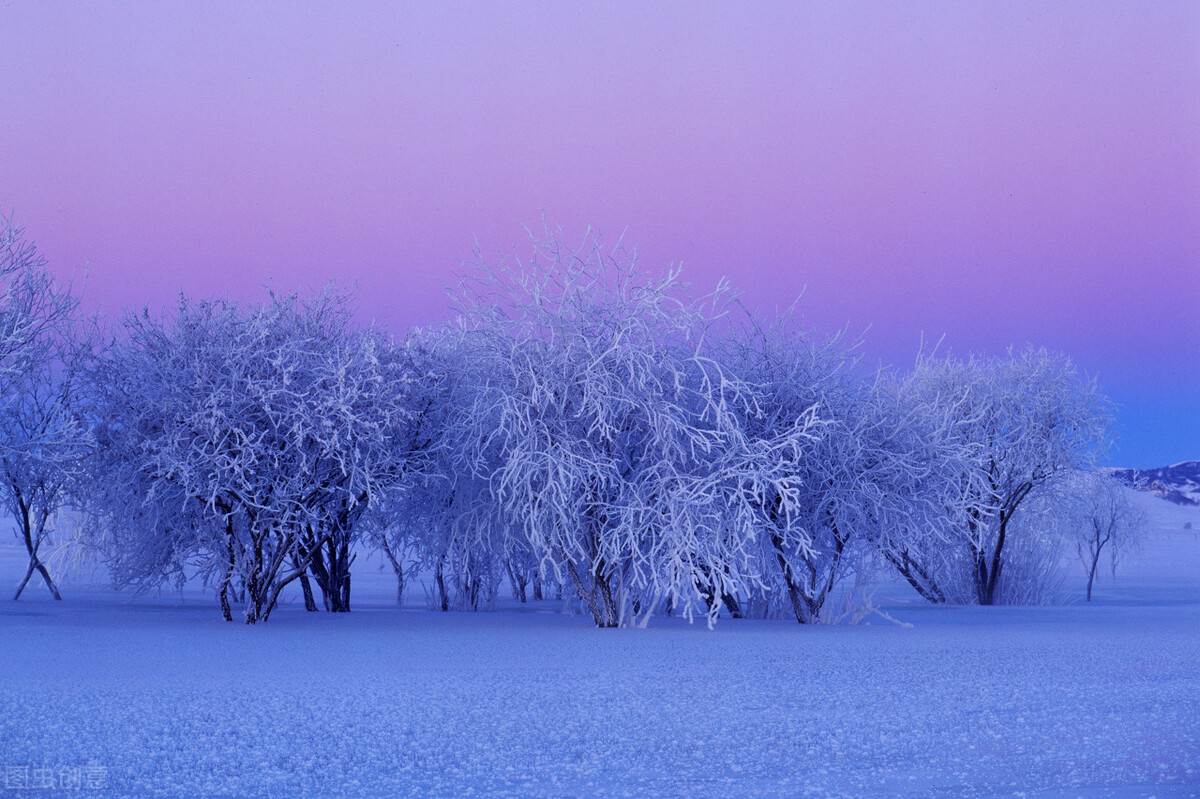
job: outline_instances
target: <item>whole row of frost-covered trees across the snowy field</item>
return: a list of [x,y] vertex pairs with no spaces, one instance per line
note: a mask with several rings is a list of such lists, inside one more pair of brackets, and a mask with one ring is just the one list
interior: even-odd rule
[[[2,236],[5,499],[22,587],[38,572],[55,596],[40,552],[70,506],[118,584],[200,576],[248,624],[292,584],[348,611],[365,547],[398,597],[418,571],[443,609],[506,583],[605,627],[828,620],[880,570],[931,602],[1028,601],[1063,509],[1097,491],[1078,475],[1105,404],[1066,356],[866,370],[842,335],[764,323],[725,286],[690,296],[590,235],[478,259],[455,320],[400,342],[326,295],[184,300],[102,347]],[[1093,576],[1129,527],[1102,523]]]

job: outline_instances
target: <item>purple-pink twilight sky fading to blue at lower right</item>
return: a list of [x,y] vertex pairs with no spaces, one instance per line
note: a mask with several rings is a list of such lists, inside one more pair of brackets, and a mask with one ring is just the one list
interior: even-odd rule
[[1200,457],[1200,4],[0,4],[0,209],[115,314],[446,314],[545,210],[907,361],[1066,349]]

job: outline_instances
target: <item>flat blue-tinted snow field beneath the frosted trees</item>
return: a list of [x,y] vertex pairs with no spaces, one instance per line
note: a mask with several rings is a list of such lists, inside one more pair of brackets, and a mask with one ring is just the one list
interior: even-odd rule
[[362,569],[354,613],[247,629],[35,584],[0,600],[0,795],[1200,795],[1200,509],[1139,501],[1156,529],[1091,606],[886,588],[912,629],[397,611]]

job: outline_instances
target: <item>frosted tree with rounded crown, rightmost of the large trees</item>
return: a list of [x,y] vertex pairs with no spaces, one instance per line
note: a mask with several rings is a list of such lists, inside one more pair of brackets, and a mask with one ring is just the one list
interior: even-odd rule
[[994,359],[925,358],[910,391],[918,403],[948,414],[953,423],[944,432],[961,451],[973,452],[941,473],[946,495],[958,498],[948,509],[949,557],[920,565],[941,570],[944,582],[968,585],[973,601],[992,605],[1014,517],[1036,492],[1092,467],[1105,437],[1105,403],[1067,356],[1045,349]]

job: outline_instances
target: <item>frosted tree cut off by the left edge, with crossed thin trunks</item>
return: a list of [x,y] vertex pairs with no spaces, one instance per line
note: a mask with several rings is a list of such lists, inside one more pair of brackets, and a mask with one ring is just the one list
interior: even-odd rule
[[0,220],[0,504],[29,557],[14,599],[35,572],[62,599],[42,547],[89,443],[76,396],[86,349],[76,341],[76,308],[37,248]]

